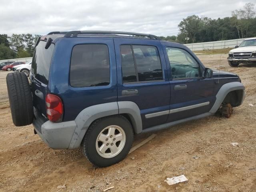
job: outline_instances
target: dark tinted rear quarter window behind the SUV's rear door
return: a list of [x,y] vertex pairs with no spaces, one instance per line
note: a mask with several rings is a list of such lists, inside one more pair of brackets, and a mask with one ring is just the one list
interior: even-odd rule
[[108,46],[82,44],[74,46],[70,64],[73,87],[105,86],[110,83]]

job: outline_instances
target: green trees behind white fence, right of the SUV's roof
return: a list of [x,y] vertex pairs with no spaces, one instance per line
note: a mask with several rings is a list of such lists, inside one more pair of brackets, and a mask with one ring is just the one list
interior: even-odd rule
[[198,43],[256,36],[254,4],[246,3],[242,9],[231,12],[230,17],[212,19],[197,15],[184,18],[177,36],[161,36],[163,40],[179,43]]

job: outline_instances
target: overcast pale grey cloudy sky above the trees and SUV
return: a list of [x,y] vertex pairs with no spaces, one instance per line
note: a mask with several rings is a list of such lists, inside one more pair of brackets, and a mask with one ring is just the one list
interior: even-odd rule
[[[256,0],[0,0],[0,34],[112,30],[177,35],[190,15],[223,18]],[[256,9],[256,8],[254,8]]]

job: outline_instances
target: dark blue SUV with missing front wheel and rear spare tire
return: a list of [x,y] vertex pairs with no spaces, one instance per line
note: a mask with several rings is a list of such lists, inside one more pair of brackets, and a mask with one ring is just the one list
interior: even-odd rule
[[82,147],[100,167],[125,158],[134,134],[230,117],[245,97],[238,75],[206,68],[182,44],[130,32],[51,32],[36,43],[29,81],[6,81],[16,126],[32,123],[54,149]]

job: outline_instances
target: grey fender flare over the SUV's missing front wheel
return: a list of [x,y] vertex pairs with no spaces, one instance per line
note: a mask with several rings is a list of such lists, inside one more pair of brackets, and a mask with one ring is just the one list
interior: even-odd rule
[[244,85],[240,82],[230,82],[230,83],[226,83],[221,86],[220,90],[216,94],[216,101],[209,112],[212,114],[216,113],[216,111],[222,104],[222,102],[225,99],[225,97],[227,96],[227,94],[234,90],[244,90],[242,100],[240,101],[240,104],[242,104],[244,101],[244,98],[245,98]]

